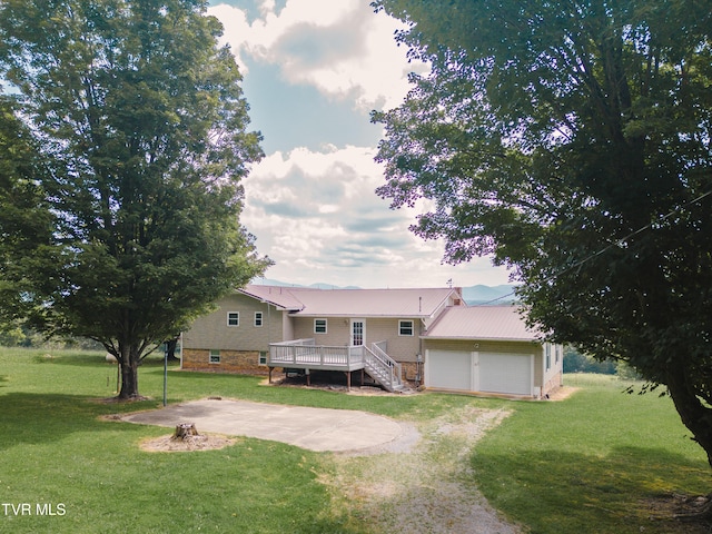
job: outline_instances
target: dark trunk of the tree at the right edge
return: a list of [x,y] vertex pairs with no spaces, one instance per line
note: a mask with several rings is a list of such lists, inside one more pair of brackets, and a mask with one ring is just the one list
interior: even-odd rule
[[685,369],[680,362],[671,364],[666,386],[682,423],[692,432],[693,439],[704,449],[712,466],[712,408],[702,404],[685,379]]

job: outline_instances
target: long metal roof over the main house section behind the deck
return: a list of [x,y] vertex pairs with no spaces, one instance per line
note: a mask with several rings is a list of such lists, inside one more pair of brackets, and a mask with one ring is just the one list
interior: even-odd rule
[[453,288],[315,289],[246,286],[241,291],[308,317],[433,317],[447,306]]

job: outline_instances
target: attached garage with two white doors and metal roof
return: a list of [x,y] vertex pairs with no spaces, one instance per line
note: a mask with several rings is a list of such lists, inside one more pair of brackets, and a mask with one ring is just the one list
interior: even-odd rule
[[515,306],[454,306],[421,336],[429,389],[543,397],[561,386],[558,348],[527,329]]

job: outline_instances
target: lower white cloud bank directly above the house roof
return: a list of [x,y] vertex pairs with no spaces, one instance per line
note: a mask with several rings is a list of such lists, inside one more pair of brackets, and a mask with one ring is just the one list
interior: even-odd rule
[[275,152],[247,178],[243,222],[276,261],[267,276],[295,284],[362,287],[505,284],[488,260],[441,265],[443,244],[408,230],[417,208],[390,210],[374,189],[383,169],[374,149]]

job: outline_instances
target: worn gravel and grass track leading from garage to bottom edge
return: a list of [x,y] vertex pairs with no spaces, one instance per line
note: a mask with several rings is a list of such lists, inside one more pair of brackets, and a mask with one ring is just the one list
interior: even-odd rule
[[508,415],[468,406],[418,423],[417,443],[398,454],[337,455],[322,482],[332,487],[335,507],[356,507],[379,532],[518,534],[479,494],[467,467],[477,441]]

